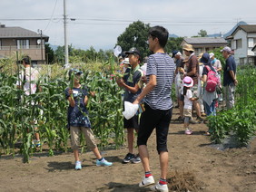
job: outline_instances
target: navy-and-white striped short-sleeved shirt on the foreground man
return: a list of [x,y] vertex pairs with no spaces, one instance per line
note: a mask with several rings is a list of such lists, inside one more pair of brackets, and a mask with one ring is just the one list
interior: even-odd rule
[[147,76],[156,76],[156,86],[146,95],[145,102],[153,110],[169,110],[172,108],[172,82],[175,64],[167,53],[154,53],[149,56]]

